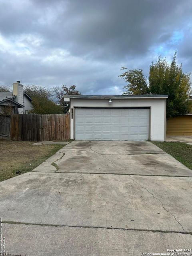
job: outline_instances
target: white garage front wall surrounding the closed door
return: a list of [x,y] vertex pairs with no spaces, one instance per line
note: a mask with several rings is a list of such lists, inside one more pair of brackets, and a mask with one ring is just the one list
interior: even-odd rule
[[[71,99],[70,101],[70,127],[71,139],[74,139],[74,118],[72,119],[72,109],[74,107],[91,108],[120,108],[120,107],[150,107],[150,140],[165,139],[166,120],[166,99],[112,99],[109,104],[108,99]],[[75,109],[73,110],[73,117]]]

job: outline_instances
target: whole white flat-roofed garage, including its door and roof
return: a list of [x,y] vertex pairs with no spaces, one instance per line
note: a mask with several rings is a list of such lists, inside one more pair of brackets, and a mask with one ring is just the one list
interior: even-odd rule
[[166,136],[168,95],[66,95],[70,138],[75,140],[160,140]]

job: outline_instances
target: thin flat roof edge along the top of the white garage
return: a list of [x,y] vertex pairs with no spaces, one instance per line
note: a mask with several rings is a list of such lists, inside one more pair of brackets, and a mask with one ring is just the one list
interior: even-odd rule
[[166,99],[168,95],[147,94],[147,95],[65,95],[64,101],[70,99]]

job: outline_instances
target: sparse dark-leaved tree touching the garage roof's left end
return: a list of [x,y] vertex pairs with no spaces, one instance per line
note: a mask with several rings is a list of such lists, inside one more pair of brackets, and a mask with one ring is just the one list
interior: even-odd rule
[[52,89],[52,96],[56,99],[57,103],[62,107],[64,114],[69,111],[70,103],[64,101],[65,95],[81,95],[81,92],[76,90],[76,86],[72,85],[69,88],[63,85],[61,88],[56,86]]

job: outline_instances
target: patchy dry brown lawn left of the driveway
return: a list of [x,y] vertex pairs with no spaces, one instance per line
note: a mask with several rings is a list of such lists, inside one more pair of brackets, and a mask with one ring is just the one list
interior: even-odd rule
[[0,140],[0,181],[31,171],[64,146],[33,143]]

